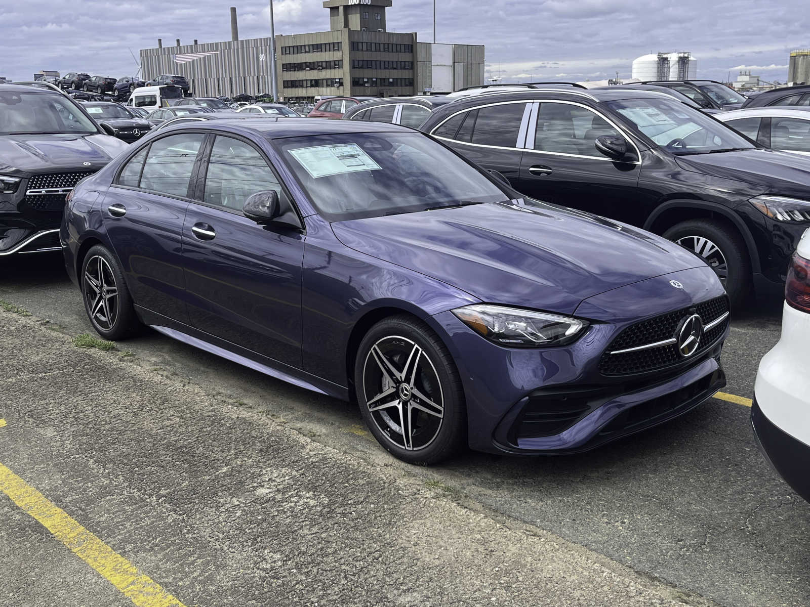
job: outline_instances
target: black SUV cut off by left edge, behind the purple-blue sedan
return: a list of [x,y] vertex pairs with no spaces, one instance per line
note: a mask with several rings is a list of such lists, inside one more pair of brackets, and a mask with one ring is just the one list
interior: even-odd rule
[[0,259],[59,248],[67,193],[128,147],[62,92],[0,84]]

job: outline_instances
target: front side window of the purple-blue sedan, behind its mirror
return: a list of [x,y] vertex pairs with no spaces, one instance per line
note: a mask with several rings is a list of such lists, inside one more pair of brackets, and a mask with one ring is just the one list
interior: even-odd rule
[[203,200],[241,211],[251,194],[269,189],[283,200],[281,184],[262,155],[245,142],[217,135],[205,178]]

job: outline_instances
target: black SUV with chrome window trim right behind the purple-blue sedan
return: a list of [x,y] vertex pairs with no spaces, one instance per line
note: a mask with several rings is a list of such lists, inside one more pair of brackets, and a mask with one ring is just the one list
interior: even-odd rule
[[782,290],[810,225],[810,159],[767,150],[661,93],[480,95],[438,108],[420,129],[527,196],[692,249],[737,305],[752,282]]

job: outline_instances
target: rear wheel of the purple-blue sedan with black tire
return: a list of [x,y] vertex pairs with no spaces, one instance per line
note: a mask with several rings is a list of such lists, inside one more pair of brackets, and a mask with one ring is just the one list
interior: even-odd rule
[[[100,276],[103,278],[99,280]],[[108,248],[96,244],[87,251],[79,274],[79,285],[84,311],[96,333],[111,341],[126,339],[138,333],[142,325],[135,314],[124,273]],[[115,289],[115,295],[112,295],[110,287]],[[101,292],[107,295],[100,297]]]

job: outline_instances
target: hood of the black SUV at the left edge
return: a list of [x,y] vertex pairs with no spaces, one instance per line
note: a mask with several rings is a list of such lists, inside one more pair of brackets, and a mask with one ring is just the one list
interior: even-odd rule
[[101,168],[128,148],[125,142],[108,135],[3,135],[0,136],[0,172]]

